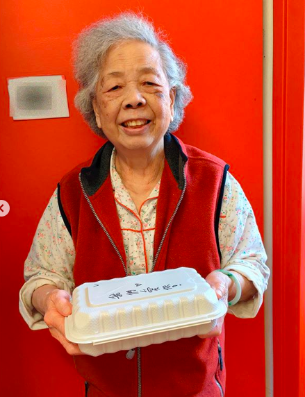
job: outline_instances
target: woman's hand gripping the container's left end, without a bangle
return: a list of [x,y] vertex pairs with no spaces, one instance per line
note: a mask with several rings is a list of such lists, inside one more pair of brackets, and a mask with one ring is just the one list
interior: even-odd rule
[[44,316],[44,322],[49,327],[52,337],[63,345],[69,355],[84,354],[77,344],[65,337],[65,317],[72,313],[70,295],[63,289],[53,285],[43,285],[35,289],[32,296],[33,306]]

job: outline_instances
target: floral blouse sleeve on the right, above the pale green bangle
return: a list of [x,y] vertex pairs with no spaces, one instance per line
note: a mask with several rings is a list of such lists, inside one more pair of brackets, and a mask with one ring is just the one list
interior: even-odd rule
[[263,303],[270,270],[267,255],[256,225],[252,207],[238,181],[227,174],[218,229],[221,267],[236,271],[254,283],[257,294],[246,302],[229,307],[228,312],[240,318],[256,316]]

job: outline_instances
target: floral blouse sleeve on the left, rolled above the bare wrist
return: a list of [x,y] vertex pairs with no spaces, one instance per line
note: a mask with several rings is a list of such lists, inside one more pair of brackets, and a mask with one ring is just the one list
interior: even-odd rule
[[19,312],[32,330],[48,328],[32,305],[32,294],[42,285],[56,285],[72,294],[75,250],[58,207],[57,189],[38,224],[24,263],[25,284],[19,292]]

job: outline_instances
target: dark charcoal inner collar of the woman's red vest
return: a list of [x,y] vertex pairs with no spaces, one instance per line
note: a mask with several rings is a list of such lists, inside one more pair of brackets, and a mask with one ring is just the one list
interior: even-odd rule
[[[109,141],[106,142],[106,144],[101,146],[101,149],[99,149],[96,155],[94,155],[90,166],[81,169],[81,181],[88,196],[95,194],[108,177],[112,151],[113,144]],[[164,136],[164,151],[170,170],[179,189],[182,190],[185,183],[183,167],[188,161],[186,147],[177,137],[166,133]]]

